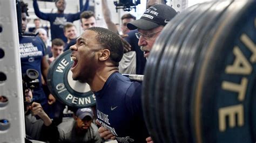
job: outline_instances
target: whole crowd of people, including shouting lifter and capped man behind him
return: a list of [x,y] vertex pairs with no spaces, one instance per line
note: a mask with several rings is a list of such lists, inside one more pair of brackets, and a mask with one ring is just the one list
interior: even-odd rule
[[[147,5],[140,19],[130,13],[123,15],[118,31],[105,0],[102,10],[108,29],[96,27],[94,13],[87,11],[89,0],[74,14],[64,13],[65,0],[57,0],[55,5],[56,13],[43,13],[33,0],[38,19],[35,27],[28,28],[28,4],[21,2],[22,32],[38,33],[36,37],[19,35],[22,74],[35,69],[39,80],[38,87],[23,88],[26,137],[49,142],[153,142],[143,117],[142,82],[122,74],[143,75],[154,41],[177,12],[164,4]],[[42,27],[41,19],[48,20],[50,28]],[[78,19],[81,35],[73,24]],[[68,49],[75,61],[72,78],[90,85],[96,96],[96,112],[70,108],[73,117],[63,121],[65,105],[46,87],[46,76],[49,65]]]

